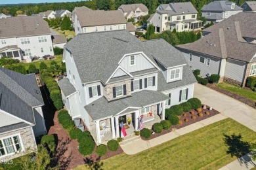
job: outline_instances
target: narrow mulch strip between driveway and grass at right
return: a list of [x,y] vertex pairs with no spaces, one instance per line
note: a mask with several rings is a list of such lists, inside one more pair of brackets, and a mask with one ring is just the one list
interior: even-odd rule
[[[232,98],[234,98],[234,99],[237,99],[238,101],[241,101],[241,102],[244,103],[245,105],[248,105],[248,106],[253,107],[253,108],[256,109],[256,102],[253,101],[252,99],[248,99],[248,98],[246,98],[246,97],[244,97],[244,96],[242,96],[242,95],[238,95],[238,94],[236,94],[236,93],[232,93],[232,92],[229,92],[229,91],[227,91],[227,90],[223,90],[223,89],[221,89],[221,88],[218,88],[218,87],[216,86],[216,84],[208,83],[206,86],[207,86],[208,88],[211,88],[211,89],[217,91],[217,92],[221,92],[221,93],[223,93],[223,94],[225,94],[225,95],[228,95],[229,97],[232,97]],[[245,89],[248,90],[248,88],[245,88]],[[249,89],[250,89],[250,88],[249,88]],[[250,90],[251,90],[251,89],[250,89]],[[252,90],[251,90],[251,91],[252,91]]]

